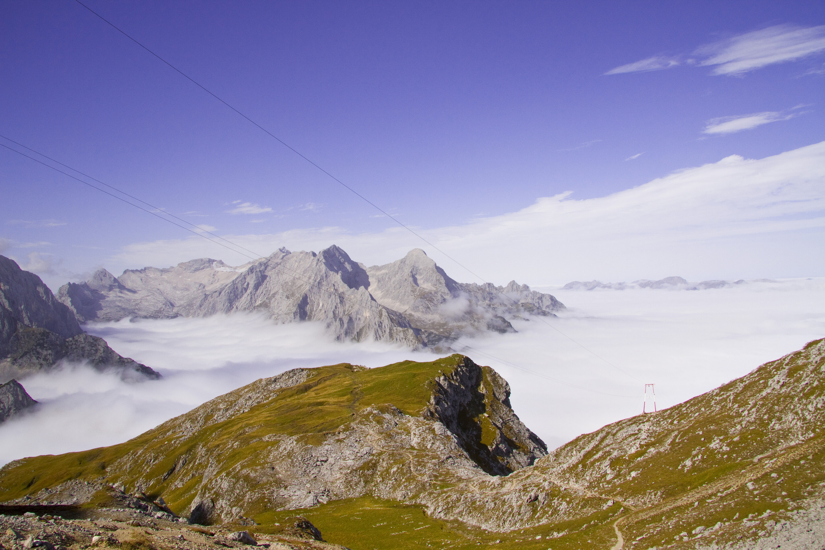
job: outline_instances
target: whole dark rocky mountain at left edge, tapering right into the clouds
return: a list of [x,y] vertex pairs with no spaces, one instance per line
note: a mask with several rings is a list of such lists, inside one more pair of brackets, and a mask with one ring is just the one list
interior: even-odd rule
[[0,256],[0,383],[51,369],[61,361],[115,369],[125,379],[160,378],[82,331],[73,311],[40,277]]

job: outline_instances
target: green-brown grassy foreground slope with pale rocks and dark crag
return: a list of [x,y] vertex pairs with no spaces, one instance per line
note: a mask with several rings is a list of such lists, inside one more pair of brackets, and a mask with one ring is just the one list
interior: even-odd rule
[[823,503],[823,340],[544,458],[508,395],[462,355],[299,369],[125,444],[8,464],[0,501],[123,482],[205,523],[247,516],[261,534],[299,513],[351,548],[554,549],[752,548]]

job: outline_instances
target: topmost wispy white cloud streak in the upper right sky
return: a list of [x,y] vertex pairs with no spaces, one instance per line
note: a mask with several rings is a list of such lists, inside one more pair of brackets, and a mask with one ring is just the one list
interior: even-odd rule
[[[688,59],[686,64],[714,67],[711,74],[741,76],[774,63],[797,61],[820,54],[823,50],[825,25],[775,25],[701,46],[694,54],[705,59]],[[605,74],[645,73],[673,68],[680,64],[678,59],[655,56],[621,65]]]

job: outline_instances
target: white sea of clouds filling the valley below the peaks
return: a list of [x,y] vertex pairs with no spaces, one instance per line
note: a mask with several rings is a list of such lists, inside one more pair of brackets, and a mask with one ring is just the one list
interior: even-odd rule
[[[521,420],[553,448],[639,414],[644,383],[670,407],[825,336],[825,278],[732,288],[551,291],[556,319],[463,339],[464,353],[512,386]],[[545,322],[546,321],[546,322]],[[296,367],[432,360],[388,344],[330,341],[318,323],[252,314],[87,325],[121,355],[158,369],[128,383],[84,365],[26,378],[35,411],[0,425],[0,463],[115,444],[222,393]]]

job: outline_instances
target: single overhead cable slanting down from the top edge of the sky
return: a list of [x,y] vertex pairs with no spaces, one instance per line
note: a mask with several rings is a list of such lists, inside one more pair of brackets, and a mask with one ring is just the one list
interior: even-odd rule
[[[186,78],[186,80],[188,80],[189,82],[192,82],[197,87],[199,87],[201,90],[208,93],[210,96],[214,97],[216,100],[220,101],[221,103],[223,103],[224,106],[227,106],[230,110],[233,110],[235,113],[237,113],[238,115],[243,117],[243,119],[247,120],[250,124],[257,127],[257,129],[262,130],[262,132],[264,132],[265,134],[270,136],[272,139],[275,139],[278,143],[281,143],[281,145],[283,145],[285,148],[290,149],[290,151],[292,151],[293,153],[295,153],[299,157],[303,158],[306,162],[309,162],[309,164],[311,164],[312,166],[318,168],[318,170],[323,172],[325,175],[329,176],[333,181],[336,181],[338,184],[345,187],[347,190],[351,191],[351,193],[358,196],[361,200],[364,200],[367,204],[370,204],[370,206],[372,206],[374,209],[378,210],[381,214],[384,214],[389,219],[392,219],[395,223],[398,223],[398,225],[400,225],[402,228],[406,229],[409,233],[413,233],[413,235],[415,235],[416,237],[421,239],[422,242],[426,242],[429,246],[433,247],[436,251],[441,252],[441,254],[443,256],[448,258],[450,261],[453,261],[455,263],[455,265],[460,266],[461,269],[467,271],[470,275],[473,275],[476,279],[482,281],[484,284],[490,284],[493,287],[493,289],[495,289],[499,294],[502,294],[502,296],[504,296],[506,299],[509,299],[510,301],[512,301],[512,303],[516,303],[516,305],[518,304],[518,302],[515,299],[513,299],[511,296],[508,296],[503,290],[497,289],[495,284],[488,283],[488,281],[485,280],[481,275],[479,275],[475,271],[469,269],[469,267],[464,266],[464,264],[462,264],[460,261],[456,260],[453,256],[450,256],[449,254],[447,254],[445,251],[441,250],[441,248],[436,247],[435,244],[428,241],[427,238],[423,237],[420,233],[417,233],[413,228],[410,228],[407,224],[405,224],[402,221],[398,220],[392,214],[389,214],[388,212],[386,212],[378,204],[375,204],[371,200],[367,199],[364,195],[361,195],[361,193],[359,193],[358,191],[353,189],[351,186],[348,186],[346,183],[344,183],[343,181],[338,179],[336,176],[333,176],[332,173],[328,172],[326,169],[321,167],[317,162],[314,162],[312,159],[310,159],[309,157],[304,155],[304,153],[300,153],[296,148],[292,147],[289,143],[286,143],[283,139],[279,138],[275,134],[272,134],[268,129],[264,128],[262,125],[259,125],[255,120],[252,120],[249,116],[245,115],[241,110],[238,110],[238,108],[232,106],[228,101],[225,101],[223,98],[221,98],[220,96],[218,96],[217,94],[212,92],[209,88],[205,87],[203,84],[201,84],[200,82],[197,82],[194,78],[191,78],[188,74],[181,71],[181,69],[177,68],[172,63],[169,63],[166,59],[163,59],[163,57],[161,57],[159,54],[156,54],[152,49],[149,49],[142,42],[135,39],[134,36],[130,35],[126,31],[121,29],[119,26],[116,26],[114,23],[112,23],[111,21],[106,19],[106,17],[101,16],[100,13],[95,12],[91,7],[88,7],[86,4],[84,4],[80,0],[74,0],[74,1],[78,2],[78,4],[80,4],[82,7],[85,7],[89,12],[92,12],[92,14],[99,17],[101,19],[101,21],[104,21],[107,25],[109,25],[113,29],[115,29],[115,31],[120,32],[121,35],[124,35],[126,38],[128,38],[129,40],[134,42],[136,45],[139,45],[141,48],[145,49],[149,54],[152,54],[154,57],[156,57],[162,63],[166,64],[169,68],[172,68],[172,70],[174,70],[176,73],[180,74],[183,78]],[[141,201],[141,202],[143,202],[143,201]],[[210,234],[214,235],[214,233],[210,233]],[[217,237],[217,235],[215,235],[215,237]],[[221,237],[218,237],[218,238],[221,238]],[[552,325],[549,322],[545,321],[541,317],[539,317],[539,318],[540,318],[541,322],[544,322],[545,325],[552,328],[554,331],[558,332],[561,336],[564,336],[569,341],[572,341],[573,344],[576,344],[577,346],[581,347],[583,350],[586,350],[588,353],[594,355],[597,359],[599,359],[599,360],[603,361],[604,363],[610,365],[614,369],[618,370],[620,373],[625,374],[625,375],[629,376],[630,378],[634,378],[634,380],[636,380],[638,382],[641,382],[641,380],[639,378],[636,378],[633,374],[628,373],[624,369],[620,369],[620,367],[618,367],[617,365],[615,365],[615,364],[611,363],[610,361],[606,360],[601,355],[596,354],[595,351],[589,349],[587,346],[584,346],[581,342],[576,341],[575,339],[573,339],[573,337],[568,336],[563,331],[560,331],[558,327],[555,327],[554,325]]]

